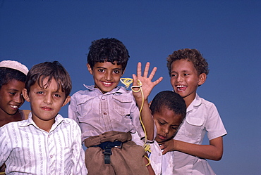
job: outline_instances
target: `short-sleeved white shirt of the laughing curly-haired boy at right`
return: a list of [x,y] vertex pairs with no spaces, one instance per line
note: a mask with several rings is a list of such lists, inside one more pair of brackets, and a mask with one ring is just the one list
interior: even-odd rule
[[[226,135],[216,106],[196,95],[174,139],[201,145],[205,133],[209,140]],[[174,174],[214,174],[207,160],[174,151]]]

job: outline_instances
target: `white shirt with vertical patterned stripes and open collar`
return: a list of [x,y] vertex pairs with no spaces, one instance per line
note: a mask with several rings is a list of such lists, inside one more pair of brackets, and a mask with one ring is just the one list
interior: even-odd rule
[[58,114],[47,132],[30,113],[0,128],[0,164],[6,164],[6,174],[87,174],[80,135],[72,119]]

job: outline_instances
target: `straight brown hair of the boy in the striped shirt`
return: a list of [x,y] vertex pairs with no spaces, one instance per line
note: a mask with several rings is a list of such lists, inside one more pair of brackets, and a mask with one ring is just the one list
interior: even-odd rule
[[[48,77],[46,84],[43,84],[44,79]],[[72,89],[71,77],[66,71],[66,69],[58,61],[54,62],[44,62],[32,66],[28,72],[28,76],[25,82],[25,89],[28,93],[30,91],[30,86],[37,83],[41,88],[47,88],[51,83],[51,79],[55,79],[58,91],[66,93],[66,97],[70,95]],[[44,87],[46,86],[46,87]]]

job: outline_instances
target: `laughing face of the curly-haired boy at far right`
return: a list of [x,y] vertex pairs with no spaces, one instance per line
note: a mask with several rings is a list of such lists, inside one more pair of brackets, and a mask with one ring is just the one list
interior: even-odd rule
[[176,93],[187,102],[195,98],[198,86],[203,84],[206,74],[198,74],[192,62],[187,59],[176,60],[171,64],[171,85]]

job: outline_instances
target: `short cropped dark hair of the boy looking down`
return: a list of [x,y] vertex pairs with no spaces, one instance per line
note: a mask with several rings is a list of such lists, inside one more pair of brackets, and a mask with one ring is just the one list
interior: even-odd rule
[[186,103],[184,99],[174,91],[161,91],[153,98],[150,104],[152,115],[161,112],[162,108],[168,108],[175,114],[186,117]]

